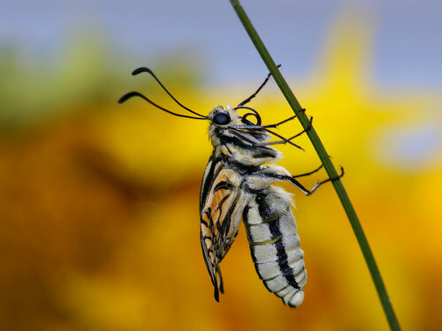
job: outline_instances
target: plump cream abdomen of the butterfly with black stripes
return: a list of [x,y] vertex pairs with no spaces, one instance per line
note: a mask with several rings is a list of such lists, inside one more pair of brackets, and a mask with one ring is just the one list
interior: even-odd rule
[[269,186],[250,199],[243,220],[259,277],[286,305],[297,307],[307,274],[291,202],[287,192]]

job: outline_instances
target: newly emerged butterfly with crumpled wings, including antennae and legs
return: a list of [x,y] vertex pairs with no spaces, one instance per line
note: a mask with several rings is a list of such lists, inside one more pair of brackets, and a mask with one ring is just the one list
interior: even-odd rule
[[[173,116],[210,122],[209,135],[213,150],[202,177],[200,240],[215,299],[219,301],[219,292],[224,292],[219,264],[237,237],[242,220],[246,226],[256,272],[265,287],[281,297],[286,305],[301,305],[307,273],[291,208],[293,199],[274,184],[289,182],[304,194],[310,195],[331,179],[318,182],[308,190],[296,178],[309,176],[322,166],[309,173],[292,176],[285,168],[275,164],[282,154],[273,146],[290,144],[302,149],[292,140],[309,130],[311,117],[305,130],[288,139],[271,129],[293,120],[295,116],[276,124],[262,124],[259,113],[246,104],[265,86],[271,74],[254,94],[237,107],[217,106],[205,116],[180,103],[149,68],[138,68],[133,71],[133,75],[141,72],[149,73],[181,109],[192,115],[164,109],[139,92],[125,94],[119,100],[120,103],[136,96]],[[238,112],[240,109],[248,112],[241,116]],[[255,121],[248,119],[250,117],[255,117]],[[271,136],[279,140],[270,141]],[[341,169],[339,177],[343,174]]]

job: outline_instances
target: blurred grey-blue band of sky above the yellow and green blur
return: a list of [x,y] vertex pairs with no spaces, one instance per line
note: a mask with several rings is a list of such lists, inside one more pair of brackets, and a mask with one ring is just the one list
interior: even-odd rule
[[[374,31],[370,75],[381,87],[442,87],[442,2],[243,0],[287,76],[312,71],[339,12],[351,6]],[[203,26],[203,28],[202,28]],[[132,67],[158,54],[201,55],[209,82],[262,79],[265,68],[227,1],[6,0],[0,45],[29,60],[56,58],[73,34],[95,31]],[[239,56],[240,55],[240,56]],[[126,70],[126,68],[125,68]]]

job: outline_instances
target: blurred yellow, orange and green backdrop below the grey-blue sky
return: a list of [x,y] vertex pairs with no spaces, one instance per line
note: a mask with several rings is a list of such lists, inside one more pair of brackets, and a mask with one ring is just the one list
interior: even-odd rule
[[[260,19],[262,2],[246,3],[260,22],[258,32],[265,34],[278,16]],[[187,12],[197,8],[191,5]],[[362,8],[342,5],[331,11],[310,56],[312,65],[299,76],[292,71],[296,56],[279,49],[288,56],[282,72],[315,117],[333,162],[346,169],[343,182],[401,326],[438,330],[441,84],[424,79],[413,84],[407,75],[403,84],[379,84],[371,74],[379,25]],[[228,38],[238,35],[236,42],[253,53],[229,4],[224,10],[236,22]],[[82,27],[84,33],[72,28],[53,57],[28,56],[29,49],[13,34],[8,42],[0,40],[0,329],[388,329],[330,184],[309,198],[284,186],[294,193],[309,275],[304,303],[290,309],[264,288],[244,229],[221,264],[225,295],[215,302],[199,241],[199,189],[211,152],[208,124],[171,117],[141,100],[123,105],[117,100],[136,89],[178,109],[149,75],[129,75],[148,65],[179,101],[206,114],[217,104],[236,105],[248,97],[267,71],[253,53],[259,70],[252,79],[243,72],[223,76],[214,68],[219,81],[211,81],[210,63],[217,60],[189,51],[187,39],[179,45],[169,42],[162,29],[180,27],[163,19],[164,26],[149,34],[166,46],[144,49],[149,61],[140,49],[113,44],[106,29],[88,34],[88,27]],[[289,31],[278,34],[278,42],[296,42],[284,39]],[[272,41],[271,34],[266,37]],[[224,37],[219,33],[216,38]],[[232,52],[232,62],[244,56],[233,66],[247,67],[249,53],[226,51]],[[292,115],[274,82],[250,106],[264,124]],[[295,121],[279,129],[284,136],[299,131]],[[278,147],[285,154],[280,164],[293,174],[316,168],[319,161],[309,140],[301,137],[296,143],[307,152]],[[324,177],[320,172],[302,183],[309,187]]]

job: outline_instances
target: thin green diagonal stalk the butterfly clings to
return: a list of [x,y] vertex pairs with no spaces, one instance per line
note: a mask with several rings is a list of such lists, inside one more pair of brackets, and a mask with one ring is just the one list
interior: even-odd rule
[[[307,115],[304,113],[300,103],[298,102],[298,100],[296,100],[296,97],[294,96],[290,87],[288,87],[286,79],[284,79],[282,74],[279,72],[277,65],[271,58],[269,51],[265,48],[263,41],[261,41],[261,38],[257,34],[255,27],[250,22],[250,19],[248,19],[246,12],[240,5],[240,2],[238,0],[230,0],[230,2],[233,6],[233,9],[238,14],[242,25],[248,32],[248,36],[253,41],[255,48],[263,58],[264,64],[267,65],[267,68],[269,69],[269,71],[271,71],[271,75],[278,84],[279,89],[286,97],[286,101],[289,103],[290,107],[292,107],[296,117],[300,120],[302,127],[306,129],[309,125],[309,117],[307,117]],[[338,178],[338,173],[331,163],[330,157],[325,151],[324,145],[319,139],[313,126],[310,127],[310,129],[307,131],[307,134],[309,136],[309,139],[311,140],[311,143],[313,144],[313,147],[315,147],[316,149],[316,153],[318,154],[319,159],[321,160],[321,162],[323,162],[324,169],[327,171],[328,176],[330,178]],[[382,281],[382,277],[377,267],[375,258],[373,257],[373,253],[371,252],[369,242],[367,241],[367,237],[365,237],[363,233],[361,223],[359,222],[356,212],[354,211],[354,207],[350,199],[348,198],[346,189],[344,188],[344,185],[342,184],[340,179],[333,180],[332,184],[336,190],[336,193],[339,196],[342,206],[347,213],[348,220],[350,221],[350,224],[352,225],[352,228],[354,230],[354,235],[356,236],[358,243],[361,246],[363,257],[365,258],[367,266],[370,269],[371,278],[375,283],[377,295],[379,296],[381,304],[384,308],[385,316],[388,320],[388,323],[390,324],[390,328],[392,330],[400,330],[399,321],[396,319],[396,316],[392,309],[392,304],[385,290],[385,285]]]

